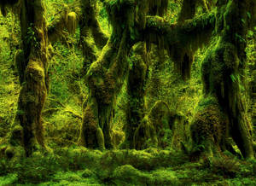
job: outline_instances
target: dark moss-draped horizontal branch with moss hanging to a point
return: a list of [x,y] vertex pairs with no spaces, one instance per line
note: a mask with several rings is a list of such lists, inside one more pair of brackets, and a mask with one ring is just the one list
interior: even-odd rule
[[215,14],[203,14],[183,24],[170,24],[159,16],[148,16],[145,39],[167,49],[178,73],[190,78],[191,65],[197,49],[208,44],[215,26]]

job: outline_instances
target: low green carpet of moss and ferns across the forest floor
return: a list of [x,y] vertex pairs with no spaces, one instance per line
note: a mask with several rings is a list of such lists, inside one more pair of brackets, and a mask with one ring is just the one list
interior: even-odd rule
[[[253,161],[224,156],[199,162],[172,150],[90,150],[0,161],[1,185],[253,185]],[[254,172],[255,173],[255,172]]]

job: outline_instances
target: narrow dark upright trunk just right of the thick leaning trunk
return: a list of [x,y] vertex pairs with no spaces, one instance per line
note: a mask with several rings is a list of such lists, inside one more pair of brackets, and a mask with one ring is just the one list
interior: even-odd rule
[[131,56],[131,68],[128,75],[127,91],[129,106],[126,110],[125,142],[122,148],[135,148],[133,137],[145,114],[145,84],[147,80],[148,60],[146,44],[135,44],[134,55]]

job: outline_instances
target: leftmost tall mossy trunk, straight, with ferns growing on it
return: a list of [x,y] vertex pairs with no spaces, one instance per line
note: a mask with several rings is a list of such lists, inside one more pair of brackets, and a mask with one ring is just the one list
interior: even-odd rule
[[41,112],[49,87],[49,53],[43,1],[21,1],[20,28],[23,52],[16,63],[21,90],[10,143],[24,146],[29,156],[38,148],[46,148]]

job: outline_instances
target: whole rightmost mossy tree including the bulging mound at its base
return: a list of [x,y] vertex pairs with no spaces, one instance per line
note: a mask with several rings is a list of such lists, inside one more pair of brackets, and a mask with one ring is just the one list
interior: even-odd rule
[[195,145],[203,145],[207,154],[212,154],[229,149],[230,136],[244,157],[253,158],[250,124],[241,98],[241,76],[246,65],[245,38],[255,19],[255,2],[218,1],[217,6],[217,39],[212,41],[202,64],[205,96],[199,104],[202,110],[195,114],[191,126],[192,139]]

